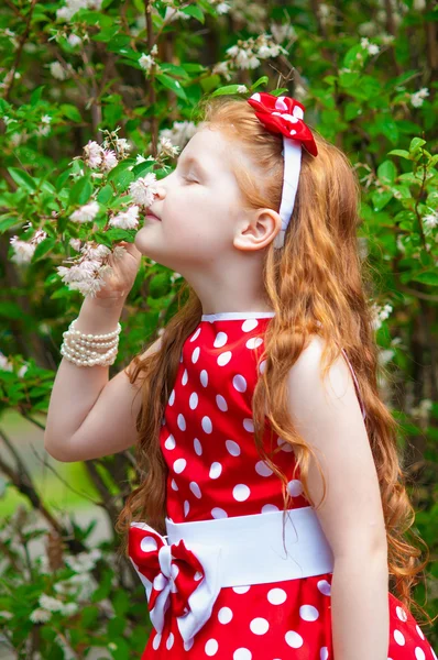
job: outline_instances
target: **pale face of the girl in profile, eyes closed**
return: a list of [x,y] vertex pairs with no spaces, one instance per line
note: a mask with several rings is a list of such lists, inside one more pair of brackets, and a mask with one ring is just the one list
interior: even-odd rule
[[232,258],[233,239],[248,226],[230,167],[232,148],[220,131],[206,127],[191,138],[176,169],[158,182],[149,211],[161,221],[146,218],[135,235],[142,254],[185,277],[213,272],[219,263],[223,267],[227,256]]

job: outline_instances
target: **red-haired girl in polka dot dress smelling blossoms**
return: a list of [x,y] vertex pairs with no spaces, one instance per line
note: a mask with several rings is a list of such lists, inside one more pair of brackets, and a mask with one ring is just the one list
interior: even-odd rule
[[427,562],[403,536],[354,170],[295,99],[204,110],[72,330],[117,345],[142,254],[184,276],[186,299],[110,382],[114,354],[83,369],[67,333],[46,448],[85,460],[138,438],[144,481],[117,528],[149,602],[143,660],[437,660],[409,609]]

